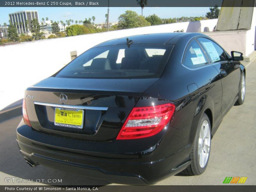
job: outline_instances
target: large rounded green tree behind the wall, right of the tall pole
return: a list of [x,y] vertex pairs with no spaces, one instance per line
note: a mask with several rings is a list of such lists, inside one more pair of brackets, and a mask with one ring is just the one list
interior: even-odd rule
[[125,11],[124,14],[118,17],[118,28],[119,29],[128,29],[136,27],[145,27],[150,26],[150,23],[145,20],[141,15],[139,16],[134,11]]

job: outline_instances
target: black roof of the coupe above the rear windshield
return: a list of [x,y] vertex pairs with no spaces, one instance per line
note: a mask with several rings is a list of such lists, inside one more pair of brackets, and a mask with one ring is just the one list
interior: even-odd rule
[[112,39],[94,47],[110,46],[110,45],[121,45],[126,44],[128,38],[133,41],[133,44],[172,44],[175,45],[178,40],[182,37],[190,37],[203,35],[202,33],[153,33],[144,35],[127,36],[117,39]]

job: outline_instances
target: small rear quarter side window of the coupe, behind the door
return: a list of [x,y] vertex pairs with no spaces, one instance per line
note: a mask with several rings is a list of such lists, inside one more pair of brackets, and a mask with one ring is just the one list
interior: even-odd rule
[[207,63],[207,58],[196,40],[193,39],[190,41],[185,50],[182,64],[188,68],[197,68],[204,66]]

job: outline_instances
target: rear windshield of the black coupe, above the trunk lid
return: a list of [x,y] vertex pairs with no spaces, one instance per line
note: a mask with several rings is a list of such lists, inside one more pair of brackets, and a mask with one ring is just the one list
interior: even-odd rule
[[173,45],[131,44],[95,47],[55,76],[63,78],[158,78]]

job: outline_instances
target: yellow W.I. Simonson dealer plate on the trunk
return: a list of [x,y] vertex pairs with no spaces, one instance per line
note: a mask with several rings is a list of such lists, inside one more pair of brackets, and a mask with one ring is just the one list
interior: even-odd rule
[[55,108],[54,124],[62,127],[83,128],[84,110],[72,108]]

